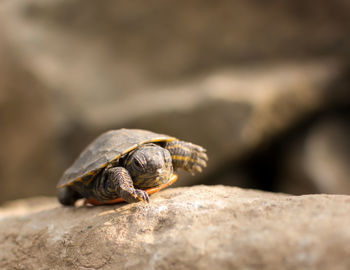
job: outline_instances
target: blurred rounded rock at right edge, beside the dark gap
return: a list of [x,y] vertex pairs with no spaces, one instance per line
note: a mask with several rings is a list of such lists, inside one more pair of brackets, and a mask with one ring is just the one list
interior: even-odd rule
[[350,194],[350,122],[326,119],[305,141],[305,167],[321,192]]

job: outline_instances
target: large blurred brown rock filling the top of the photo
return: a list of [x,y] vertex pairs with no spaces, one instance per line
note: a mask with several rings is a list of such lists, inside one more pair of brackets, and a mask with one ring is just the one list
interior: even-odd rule
[[14,46],[76,112],[222,66],[349,55],[346,0],[4,2]]

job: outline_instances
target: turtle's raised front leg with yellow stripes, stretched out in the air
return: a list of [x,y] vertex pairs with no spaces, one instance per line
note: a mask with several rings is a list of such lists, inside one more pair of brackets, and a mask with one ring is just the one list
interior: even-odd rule
[[199,145],[175,140],[167,142],[165,149],[171,154],[174,169],[181,168],[194,174],[207,166],[206,150]]

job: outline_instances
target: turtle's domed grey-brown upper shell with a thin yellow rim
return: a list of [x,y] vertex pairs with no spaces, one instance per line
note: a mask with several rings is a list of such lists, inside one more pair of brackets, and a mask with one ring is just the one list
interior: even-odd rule
[[176,138],[141,129],[107,131],[85,148],[73,165],[64,172],[57,187],[90,179],[87,176],[96,175],[110,163],[117,163],[120,157],[142,144],[173,140]]

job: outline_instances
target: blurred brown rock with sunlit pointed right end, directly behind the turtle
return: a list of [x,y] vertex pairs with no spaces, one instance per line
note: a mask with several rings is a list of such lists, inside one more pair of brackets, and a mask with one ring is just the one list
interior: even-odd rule
[[[100,132],[120,127],[151,129],[203,145],[208,149],[210,158],[205,173],[195,177],[181,174],[177,185],[209,183],[218,179],[223,166],[228,164],[232,167],[233,162],[325,106],[333,94],[333,82],[340,73],[341,67],[334,61],[217,71],[162,90],[130,93],[126,99],[84,103],[82,106],[86,106],[86,110],[79,110],[75,116],[59,117],[64,119],[63,122],[69,122],[67,125],[56,117],[60,112],[69,111],[69,105],[49,99],[43,101],[38,111],[37,100],[40,99],[33,98],[32,103],[25,103],[28,109],[21,107],[21,110],[16,110],[17,114],[4,114],[11,131],[11,139],[3,141],[6,142],[4,147],[11,145],[16,134],[24,144],[20,153],[26,153],[25,147],[30,147],[31,153],[30,158],[26,156],[22,160],[15,155],[12,145],[3,152],[6,159],[0,160],[0,165],[13,169],[11,177],[1,178],[2,181],[7,179],[6,185],[11,188],[0,191],[4,193],[0,200],[53,195],[61,173],[79,152]],[[11,80],[11,83],[16,85],[17,81]],[[32,95],[34,93],[32,87]],[[48,96],[56,97],[54,94]],[[20,103],[20,97],[12,102]],[[47,103],[52,104],[49,108],[54,109],[46,110]],[[13,110],[15,106],[10,105],[9,108]],[[16,118],[19,121],[11,118],[19,113],[23,116]],[[77,115],[78,118],[75,118]],[[28,129],[26,119],[29,116],[33,119],[30,125],[39,127]],[[22,162],[26,164],[25,168],[30,169],[24,169]],[[228,179],[237,178],[230,176]]]

